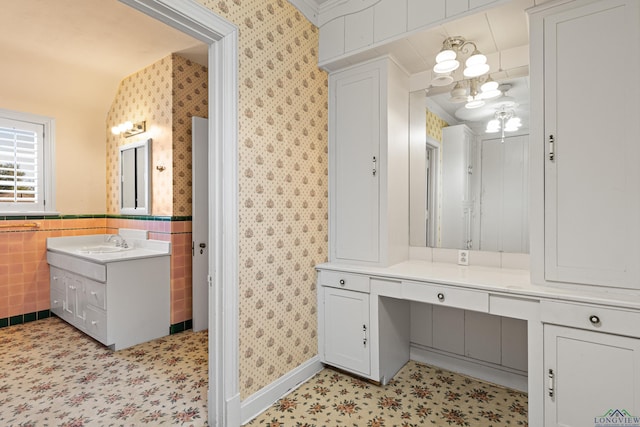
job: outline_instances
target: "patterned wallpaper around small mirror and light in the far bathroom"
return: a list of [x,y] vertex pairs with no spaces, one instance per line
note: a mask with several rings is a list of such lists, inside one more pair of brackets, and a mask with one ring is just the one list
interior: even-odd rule
[[[175,54],[120,82],[106,123],[107,213],[120,213],[119,147],[151,138],[152,214],[191,215],[191,115],[207,117],[207,97],[206,67]],[[147,132],[129,138],[111,133],[127,120],[145,120]]]

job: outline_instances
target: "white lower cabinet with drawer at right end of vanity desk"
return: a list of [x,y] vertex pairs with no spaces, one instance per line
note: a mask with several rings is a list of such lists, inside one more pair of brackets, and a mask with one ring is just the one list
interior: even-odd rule
[[616,410],[637,417],[640,313],[568,303],[541,305],[545,426],[600,425],[600,418],[617,419]]

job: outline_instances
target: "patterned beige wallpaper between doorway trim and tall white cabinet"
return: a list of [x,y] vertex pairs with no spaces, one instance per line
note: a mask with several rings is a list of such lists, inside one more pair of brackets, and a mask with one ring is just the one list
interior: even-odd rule
[[240,388],[317,354],[327,259],[327,75],[318,31],[285,0],[199,0],[239,37]]

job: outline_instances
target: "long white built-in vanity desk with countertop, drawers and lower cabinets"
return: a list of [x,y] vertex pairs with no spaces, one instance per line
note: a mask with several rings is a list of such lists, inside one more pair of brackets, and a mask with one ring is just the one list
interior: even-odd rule
[[[544,399],[583,420],[575,425],[590,425],[610,407],[638,409],[637,294],[539,286],[528,270],[422,260],[317,269],[319,354],[326,364],[386,384],[411,357],[411,303],[448,306],[527,322],[529,425],[544,425]],[[612,361],[606,369],[603,358]],[[597,393],[629,376],[619,393]]]

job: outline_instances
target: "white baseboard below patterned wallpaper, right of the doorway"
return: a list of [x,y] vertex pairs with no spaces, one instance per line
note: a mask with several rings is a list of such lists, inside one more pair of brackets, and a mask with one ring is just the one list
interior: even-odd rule
[[278,399],[296,389],[303,382],[320,372],[324,366],[319,356],[307,360],[302,365],[289,371],[268,386],[258,390],[240,404],[240,419],[246,424],[264,412]]

